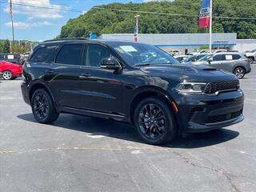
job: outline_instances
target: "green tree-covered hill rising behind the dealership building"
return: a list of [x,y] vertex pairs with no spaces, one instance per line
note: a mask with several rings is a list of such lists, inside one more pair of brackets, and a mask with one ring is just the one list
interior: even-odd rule
[[[98,6],[104,9],[92,8],[86,14],[70,19],[65,26],[62,26],[58,38],[88,38],[90,32],[97,35],[133,33],[134,15],[137,13],[116,10],[191,15],[138,13],[141,15],[139,33],[142,34],[206,33],[207,30],[198,30],[197,16],[201,2],[201,0],[175,0],[174,2],[130,2]],[[213,0],[214,16],[256,18],[255,7],[256,0]],[[256,38],[256,20],[213,18],[213,30],[215,33],[238,33],[238,38]]]

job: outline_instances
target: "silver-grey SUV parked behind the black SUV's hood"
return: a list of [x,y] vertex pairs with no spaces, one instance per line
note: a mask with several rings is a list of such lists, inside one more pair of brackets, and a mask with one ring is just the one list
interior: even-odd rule
[[208,54],[197,62],[193,62],[193,65],[210,65],[219,70],[231,72],[238,78],[243,78],[251,70],[248,58],[243,54],[234,52]]

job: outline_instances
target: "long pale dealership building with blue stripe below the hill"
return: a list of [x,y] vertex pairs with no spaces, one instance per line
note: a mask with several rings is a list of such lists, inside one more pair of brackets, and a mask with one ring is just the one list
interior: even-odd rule
[[[99,38],[134,41],[134,34],[102,34]],[[179,50],[182,54],[209,45],[209,34],[139,34],[138,42],[158,46],[162,50]],[[237,40],[237,34],[212,34],[214,49],[246,51],[256,48],[256,41]],[[248,49],[247,49],[248,48]]]

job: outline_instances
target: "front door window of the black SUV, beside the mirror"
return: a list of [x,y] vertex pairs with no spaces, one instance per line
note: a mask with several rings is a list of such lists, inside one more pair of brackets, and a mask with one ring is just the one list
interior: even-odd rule
[[110,50],[101,45],[88,45],[86,66],[99,66],[102,58],[110,57]]

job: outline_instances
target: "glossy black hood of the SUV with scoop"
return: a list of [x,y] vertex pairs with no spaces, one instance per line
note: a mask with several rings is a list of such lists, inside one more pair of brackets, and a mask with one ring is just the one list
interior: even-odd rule
[[140,70],[150,76],[170,78],[178,82],[218,82],[236,79],[234,74],[206,65],[152,65],[141,66]]

